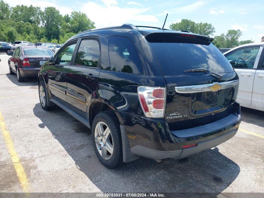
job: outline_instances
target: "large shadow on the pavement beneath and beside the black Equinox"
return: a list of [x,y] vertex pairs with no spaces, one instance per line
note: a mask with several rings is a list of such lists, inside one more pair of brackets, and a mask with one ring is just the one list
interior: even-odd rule
[[[238,176],[240,167],[218,148],[190,156],[187,162],[170,160],[157,163],[140,158],[119,169],[110,170],[97,159],[91,131],[62,109],[33,112],[59,141],[76,167],[102,192],[213,192],[225,190]],[[59,123],[59,124],[58,124]],[[60,178],[61,180],[62,178]],[[72,184],[74,185],[74,184]]]

